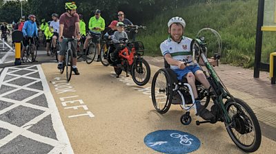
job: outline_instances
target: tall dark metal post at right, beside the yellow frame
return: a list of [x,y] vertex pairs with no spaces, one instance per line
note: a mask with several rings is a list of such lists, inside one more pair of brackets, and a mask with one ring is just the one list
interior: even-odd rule
[[255,64],[254,64],[254,78],[259,78],[259,67],[262,56],[262,39],[263,32],[261,30],[264,24],[264,0],[259,0],[258,16],[257,16],[257,32],[256,32],[256,46],[255,46]]

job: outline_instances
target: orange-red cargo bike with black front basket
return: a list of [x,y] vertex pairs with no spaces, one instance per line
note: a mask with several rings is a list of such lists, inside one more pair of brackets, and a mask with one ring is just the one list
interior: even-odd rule
[[119,51],[119,59],[117,61],[110,61],[110,64],[114,67],[114,71],[117,74],[117,78],[124,70],[128,77],[128,72],[132,76],[132,80],[139,86],[146,85],[150,80],[150,65],[143,58],[144,45],[141,41],[126,42],[126,38],[120,39],[120,43],[123,44],[122,50]]

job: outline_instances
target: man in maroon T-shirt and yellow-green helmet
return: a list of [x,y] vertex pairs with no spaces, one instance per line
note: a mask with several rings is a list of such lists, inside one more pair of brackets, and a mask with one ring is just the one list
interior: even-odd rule
[[[61,49],[59,51],[59,65],[57,65],[58,69],[63,68],[62,60],[64,58],[64,54],[67,49],[68,39],[77,38],[80,39],[80,29],[79,29],[79,14],[76,12],[77,5],[75,2],[65,3],[66,12],[61,14],[59,19],[59,41],[61,42]],[[79,71],[77,69],[77,40],[72,41],[72,71],[79,75]]]

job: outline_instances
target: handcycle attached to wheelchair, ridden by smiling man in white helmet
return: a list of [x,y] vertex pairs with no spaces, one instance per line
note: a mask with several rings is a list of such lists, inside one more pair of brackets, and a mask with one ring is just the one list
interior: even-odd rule
[[[215,30],[213,32],[218,34]],[[199,61],[201,58],[204,62],[206,67],[204,74],[210,83],[210,89],[204,89],[201,83],[196,83],[197,92],[200,100],[205,99],[205,107],[208,106],[210,100],[213,100],[215,121],[199,122],[197,120],[196,124],[224,122],[231,139],[242,151],[248,153],[257,151],[261,144],[262,133],[255,113],[246,102],[235,98],[226,89],[205,56],[207,45],[204,43],[204,37],[199,38],[192,41],[191,50],[195,60]],[[215,54],[214,58],[218,60],[220,54]],[[191,109],[195,109],[195,113],[197,113],[193,90],[186,81],[177,80],[177,75],[169,68],[166,61],[165,68],[159,69],[152,79],[151,96],[153,106],[162,114],[168,111],[171,104],[180,104],[181,108],[186,111],[180,118],[184,125],[190,124],[192,120]]]

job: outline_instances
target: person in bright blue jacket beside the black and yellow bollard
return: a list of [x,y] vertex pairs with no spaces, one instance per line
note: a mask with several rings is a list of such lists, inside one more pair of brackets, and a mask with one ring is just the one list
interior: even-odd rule
[[[28,45],[28,39],[29,37],[34,37],[34,39],[30,39],[30,43],[34,44],[35,38],[38,36],[38,30],[37,30],[37,23],[35,22],[35,16],[34,14],[30,14],[28,17],[28,21],[26,21],[23,25],[22,32],[24,36],[23,40],[23,47],[21,50],[21,58],[23,58],[24,51],[26,50],[26,46]],[[34,61],[34,53],[32,54],[32,61]]]

